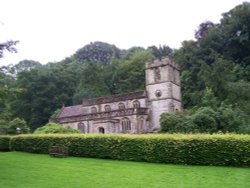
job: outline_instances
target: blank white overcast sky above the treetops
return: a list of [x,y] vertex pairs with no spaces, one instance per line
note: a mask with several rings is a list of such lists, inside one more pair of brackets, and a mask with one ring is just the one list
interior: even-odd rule
[[0,66],[32,59],[60,61],[102,41],[121,49],[193,39],[198,25],[218,23],[242,0],[0,0],[0,43],[19,40]]

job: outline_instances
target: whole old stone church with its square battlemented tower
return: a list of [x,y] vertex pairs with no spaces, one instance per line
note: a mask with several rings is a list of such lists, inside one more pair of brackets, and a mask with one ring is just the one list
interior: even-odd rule
[[83,100],[62,107],[54,122],[81,133],[147,133],[160,128],[163,112],[179,111],[179,69],[170,59],[147,62],[146,90]]

